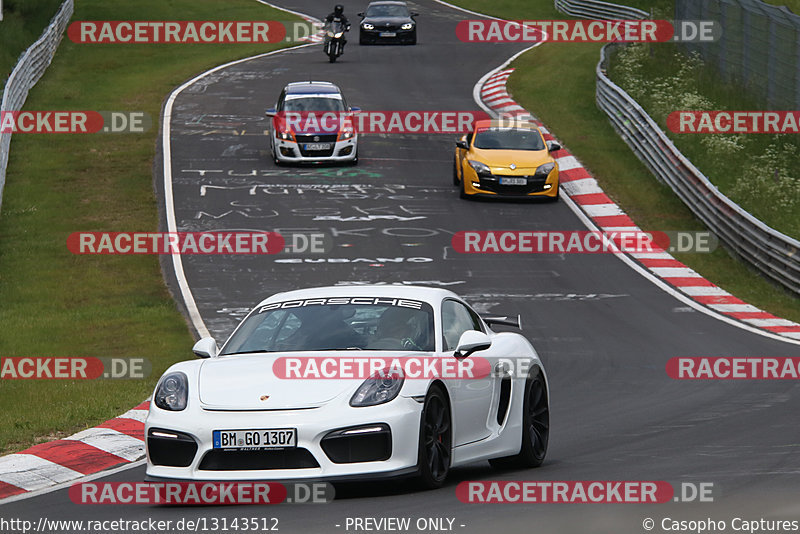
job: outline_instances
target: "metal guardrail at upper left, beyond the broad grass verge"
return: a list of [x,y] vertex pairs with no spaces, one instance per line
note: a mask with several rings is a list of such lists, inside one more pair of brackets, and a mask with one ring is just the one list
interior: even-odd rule
[[[39,78],[53,60],[64,30],[72,18],[74,0],[64,0],[58,13],[50,21],[50,25],[42,32],[41,37],[33,43],[19,58],[14,70],[3,89],[3,100],[0,112],[19,111],[28,98],[28,92],[36,85]],[[3,203],[3,188],[6,185],[6,167],[8,152],[11,146],[11,134],[0,133],[0,207]]]

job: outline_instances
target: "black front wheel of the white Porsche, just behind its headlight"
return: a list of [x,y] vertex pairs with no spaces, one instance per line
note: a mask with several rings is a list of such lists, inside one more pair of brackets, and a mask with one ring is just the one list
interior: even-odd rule
[[445,393],[432,387],[425,396],[419,425],[417,469],[422,485],[434,489],[442,487],[450,472],[453,448],[453,425]]

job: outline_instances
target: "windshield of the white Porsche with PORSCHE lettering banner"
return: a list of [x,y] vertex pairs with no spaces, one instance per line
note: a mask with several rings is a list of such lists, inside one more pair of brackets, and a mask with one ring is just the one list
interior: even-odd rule
[[221,355],[306,350],[435,349],[433,311],[425,302],[334,297],[276,302],[244,320]]

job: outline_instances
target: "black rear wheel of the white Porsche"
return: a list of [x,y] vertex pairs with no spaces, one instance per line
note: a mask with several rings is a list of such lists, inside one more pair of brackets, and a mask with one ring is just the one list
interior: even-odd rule
[[519,454],[489,460],[492,467],[528,468],[539,467],[547,455],[550,437],[550,405],[547,384],[541,373],[525,381],[525,397],[522,405],[522,446]]

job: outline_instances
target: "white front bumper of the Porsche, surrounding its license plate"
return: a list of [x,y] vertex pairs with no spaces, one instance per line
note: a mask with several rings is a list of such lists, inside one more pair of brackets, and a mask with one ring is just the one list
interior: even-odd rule
[[[421,412],[422,404],[408,397],[363,408],[350,407],[346,401],[345,406],[333,402],[318,408],[268,411],[211,411],[188,406],[182,412],[169,412],[152,406],[145,423],[147,477],[224,481],[346,480],[406,474],[412,472],[417,464]],[[378,454],[386,459],[342,461],[342,455],[330,447],[334,432],[353,428],[367,428],[371,432],[378,427],[390,433],[388,455]],[[214,430],[273,428],[296,428],[296,448],[253,452],[223,451],[213,447]],[[164,438],[160,438],[160,443],[155,441],[153,430],[162,436],[180,436],[176,446],[184,447],[185,461],[165,460],[164,455],[156,450],[164,447]],[[358,432],[353,434],[354,438],[369,438],[370,432],[362,436]],[[326,437],[329,439],[325,440]],[[189,439],[194,441],[196,449],[192,449]]]

